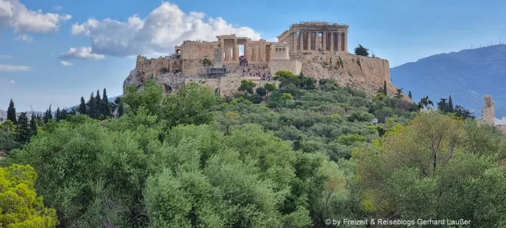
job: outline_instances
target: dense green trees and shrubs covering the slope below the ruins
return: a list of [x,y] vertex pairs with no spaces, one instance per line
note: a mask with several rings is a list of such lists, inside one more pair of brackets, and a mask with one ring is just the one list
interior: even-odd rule
[[27,141],[12,130],[20,120],[7,121],[0,146],[7,136],[20,146],[0,164],[34,168],[62,227],[506,224],[506,140],[493,127],[448,102],[426,111],[428,97],[371,96],[289,71],[276,79],[225,98],[195,83],[164,94],[150,80],[115,102],[120,118],[36,121]]

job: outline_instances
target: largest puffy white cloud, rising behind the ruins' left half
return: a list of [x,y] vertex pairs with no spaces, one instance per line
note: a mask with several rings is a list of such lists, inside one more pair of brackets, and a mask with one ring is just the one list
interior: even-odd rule
[[249,27],[233,26],[221,17],[206,18],[204,13],[185,13],[177,5],[167,2],[145,18],[138,15],[127,21],[89,18],[81,24],[73,24],[71,32],[89,36],[94,53],[113,56],[168,54],[185,40],[216,41],[217,35],[230,32],[260,39],[260,33]]

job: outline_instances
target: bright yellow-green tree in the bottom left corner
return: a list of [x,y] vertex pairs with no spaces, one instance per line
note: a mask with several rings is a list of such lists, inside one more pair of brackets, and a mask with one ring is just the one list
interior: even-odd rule
[[[25,113],[26,114],[26,113]],[[0,168],[0,224],[3,227],[56,227],[56,210],[44,206],[43,197],[35,193],[37,173],[30,166]]]

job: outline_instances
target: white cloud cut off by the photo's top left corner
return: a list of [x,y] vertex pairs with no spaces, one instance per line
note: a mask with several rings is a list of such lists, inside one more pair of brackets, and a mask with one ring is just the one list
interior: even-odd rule
[[70,18],[68,14],[28,10],[18,0],[0,0],[0,28],[12,27],[16,33],[58,31],[60,23]]

